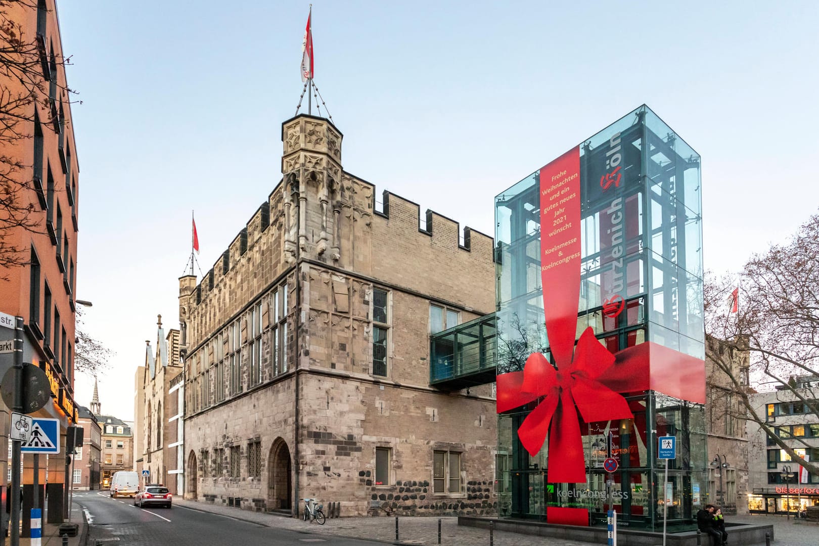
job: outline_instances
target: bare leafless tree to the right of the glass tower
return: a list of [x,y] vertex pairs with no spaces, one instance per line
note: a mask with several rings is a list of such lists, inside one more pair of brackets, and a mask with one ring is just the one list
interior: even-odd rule
[[[753,255],[741,275],[737,313],[728,313],[731,278],[708,276],[705,283],[705,353],[727,378],[745,419],[756,422],[790,457],[819,474],[819,463],[803,462],[759,414],[744,374],[764,377],[793,401],[801,401],[819,421],[819,214],[804,223],[785,245]],[[736,366],[737,354],[749,355],[748,368]],[[799,378],[808,378],[804,381]],[[805,447],[811,447],[800,438]]]

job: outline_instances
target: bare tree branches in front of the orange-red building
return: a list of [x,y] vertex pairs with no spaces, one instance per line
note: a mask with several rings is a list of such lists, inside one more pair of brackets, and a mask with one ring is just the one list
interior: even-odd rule
[[[20,151],[35,130],[60,133],[65,117],[57,108],[57,95],[73,93],[58,83],[57,67],[69,60],[45,50],[43,37],[26,33],[21,20],[26,12],[45,15],[38,0],[0,0],[0,268],[28,263],[28,246],[20,247],[11,237],[17,229],[43,232],[35,214],[35,192],[42,192],[34,165]],[[35,127],[36,112],[43,123]]]

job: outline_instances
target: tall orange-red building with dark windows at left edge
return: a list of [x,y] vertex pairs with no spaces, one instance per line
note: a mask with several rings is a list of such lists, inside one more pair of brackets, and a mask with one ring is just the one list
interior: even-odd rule
[[[0,341],[14,337],[13,317],[23,318],[23,361],[48,375],[52,402],[34,417],[76,422],[74,404],[75,276],[79,210],[79,165],[62,44],[54,0],[5,2],[7,21],[0,48],[25,69],[25,76],[0,75],[3,122],[0,124],[0,313],[11,324],[0,327]],[[26,83],[23,83],[26,82]],[[29,228],[9,220],[11,203],[27,209]],[[18,250],[12,252],[12,249]],[[0,367],[13,354],[0,355]],[[9,420],[0,401],[0,418]],[[7,428],[0,431],[0,472],[7,476]],[[48,521],[61,521],[65,449],[40,458],[39,483],[48,474]],[[23,481],[33,483],[32,456],[24,457]],[[30,508],[30,507],[29,507]]]

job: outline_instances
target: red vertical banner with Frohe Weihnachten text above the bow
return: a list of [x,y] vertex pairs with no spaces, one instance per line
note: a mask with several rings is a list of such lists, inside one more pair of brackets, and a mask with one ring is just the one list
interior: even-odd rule
[[[580,300],[580,147],[541,169],[541,280],[554,359],[572,361]],[[573,408],[572,408],[573,411]]]

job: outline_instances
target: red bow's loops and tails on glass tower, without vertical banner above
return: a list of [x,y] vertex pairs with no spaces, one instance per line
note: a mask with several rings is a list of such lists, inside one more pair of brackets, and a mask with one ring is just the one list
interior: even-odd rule
[[544,397],[523,420],[518,438],[534,456],[549,432],[548,481],[586,481],[576,404],[585,422],[633,417],[626,399],[597,380],[613,363],[614,355],[595,339],[589,327],[577,341],[570,363],[559,363],[555,370],[543,354],[532,353],[523,372],[497,377],[499,412]]

